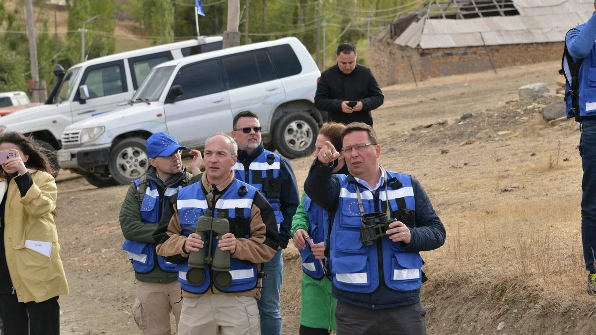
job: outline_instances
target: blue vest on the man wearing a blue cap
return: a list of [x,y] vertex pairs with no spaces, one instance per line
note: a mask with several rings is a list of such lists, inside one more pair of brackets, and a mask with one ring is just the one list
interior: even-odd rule
[[[135,180],[135,185],[138,190],[140,179]],[[172,185],[164,191],[163,197],[168,198],[178,193],[182,188],[182,182]],[[143,196],[141,203],[141,219],[144,224],[158,224],[161,214],[163,213],[163,206],[165,206],[165,199],[159,199],[159,190],[157,185],[151,180],[147,179],[147,189]],[[128,258],[132,262],[132,268],[135,272],[146,274],[153,271],[156,260],[159,268],[166,272],[176,272],[176,264],[166,262],[166,259],[157,255],[155,251],[155,244],[143,243],[139,241],[125,240],[122,244],[122,250],[128,252]]]

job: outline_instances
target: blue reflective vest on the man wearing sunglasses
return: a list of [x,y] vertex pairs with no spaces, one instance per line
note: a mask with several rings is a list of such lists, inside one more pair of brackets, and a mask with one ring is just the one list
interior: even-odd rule
[[244,165],[240,162],[236,162],[232,166],[236,179],[258,188],[271,204],[275,213],[275,221],[277,221],[278,233],[280,232],[281,222],[284,221],[284,216],[280,210],[280,162],[280,154],[263,149],[263,152],[250,163],[248,170],[245,170]]

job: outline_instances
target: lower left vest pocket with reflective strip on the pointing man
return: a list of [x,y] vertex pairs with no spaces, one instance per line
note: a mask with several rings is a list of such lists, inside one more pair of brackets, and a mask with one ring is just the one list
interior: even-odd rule
[[[371,284],[367,255],[344,255],[333,259],[334,284],[340,290],[365,292]],[[362,287],[355,289],[355,287]]]

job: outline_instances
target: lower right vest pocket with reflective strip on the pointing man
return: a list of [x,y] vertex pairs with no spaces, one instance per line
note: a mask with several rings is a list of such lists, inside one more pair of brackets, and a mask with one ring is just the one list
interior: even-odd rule
[[391,272],[385,274],[385,279],[390,278],[389,287],[400,291],[420,289],[422,258],[418,253],[395,253],[392,256],[391,265]]

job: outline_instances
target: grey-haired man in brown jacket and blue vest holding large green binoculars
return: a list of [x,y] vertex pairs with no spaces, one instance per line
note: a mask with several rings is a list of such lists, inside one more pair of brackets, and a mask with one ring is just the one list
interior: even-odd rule
[[[271,205],[257,188],[234,178],[237,153],[229,135],[208,138],[201,182],[169,198],[167,212],[153,234],[157,253],[178,269],[184,297],[178,335],[260,333],[260,267],[275,255],[280,241]],[[219,232],[204,228],[205,220],[218,227],[211,218],[219,220]],[[205,229],[199,231],[203,237],[196,231],[199,221]],[[206,256],[197,254],[201,249]],[[218,253],[223,252],[230,255],[229,271],[217,271],[215,266]],[[197,259],[202,259],[202,268],[194,263]]]

